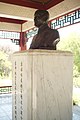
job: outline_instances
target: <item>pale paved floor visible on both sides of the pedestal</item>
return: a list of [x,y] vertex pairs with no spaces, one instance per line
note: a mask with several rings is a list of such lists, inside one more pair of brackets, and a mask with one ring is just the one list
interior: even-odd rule
[[[12,120],[12,94],[0,95],[0,120]],[[73,120],[80,120],[79,106],[73,106]]]

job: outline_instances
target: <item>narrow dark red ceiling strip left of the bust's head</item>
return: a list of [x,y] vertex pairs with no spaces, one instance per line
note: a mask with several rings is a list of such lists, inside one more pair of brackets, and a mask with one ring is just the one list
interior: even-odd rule
[[23,24],[23,23],[27,22],[27,20],[25,21],[25,20],[18,20],[18,19],[11,19],[11,18],[0,17],[0,22]]

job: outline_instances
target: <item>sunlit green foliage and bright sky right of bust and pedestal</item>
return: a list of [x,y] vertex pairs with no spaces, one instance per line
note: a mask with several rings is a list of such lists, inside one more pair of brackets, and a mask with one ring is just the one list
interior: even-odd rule
[[73,104],[80,105],[80,91],[76,91],[80,89],[80,27],[78,26],[80,24],[60,30],[61,40],[57,47],[59,50],[73,53]]

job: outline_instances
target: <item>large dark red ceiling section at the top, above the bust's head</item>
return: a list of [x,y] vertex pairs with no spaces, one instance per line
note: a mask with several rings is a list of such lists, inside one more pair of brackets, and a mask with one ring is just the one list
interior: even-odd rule
[[56,4],[62,2],[64,0],[47,0],[46,1],[33,1],[33,0],[0,0],[0,2],[24,6],[24,7],[30,7],[35,9],[43,9],[47,10]]

